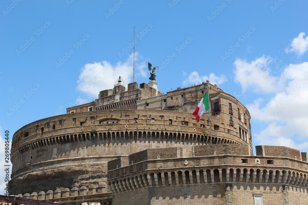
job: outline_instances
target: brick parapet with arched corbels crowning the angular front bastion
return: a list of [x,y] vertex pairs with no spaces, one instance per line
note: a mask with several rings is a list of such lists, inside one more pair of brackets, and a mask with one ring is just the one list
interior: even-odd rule
[[108,189],[117,194],[145,187],[244,183],[287,185],[308,191],[308,162],[294,159],[300,151],[278,146],[263,149],[265,153],[281,152],[252,156],[248,155],[248,146],[237,144],[193,146],[193,157],[180,155],[180,148],[144,150],[129,155],[128,160],[108,162]]

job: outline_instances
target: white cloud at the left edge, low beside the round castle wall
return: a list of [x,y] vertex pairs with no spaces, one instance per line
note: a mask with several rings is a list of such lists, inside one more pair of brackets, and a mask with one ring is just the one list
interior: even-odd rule
[[[0,133],[2,133],[2,128],[0,126]],[[10,134],[10,133],[9,133]],[[9,135],[10,136],[10,135]],[[3,136],[5,138],[5,136]],[[11,137],[10,137],[11,138]],[[5,191],[4,188],[6,188],[6,184],[8,182],[5,182],[5,177],[6,177],[6,171],[4,171],[5,168],[9,168],[9,179],[10,179],[10,175],[11,175],[11,171],[12,171],[12,164],[11,161],[9,161],[9,163],[5,163],[5,139],[2,138],[1,134],[0,134],[0,156],[1,156],[1,161],[0,161],[0,195],[5,195]],[[11,148],[11,142],[9,140],[9,152],[10,152],[10,148]],[[4,166],[4,165],[10,165],[10,166]]]

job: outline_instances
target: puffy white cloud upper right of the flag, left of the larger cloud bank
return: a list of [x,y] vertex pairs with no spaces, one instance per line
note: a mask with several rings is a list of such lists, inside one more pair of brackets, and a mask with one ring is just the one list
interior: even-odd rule
[[259,57],[251,63],[246,60],[236,59],[234,62],[234,81],[239,83],[243,92],[251,88],[257,92],[271,93],[276,91],[280,84],[278,77],[270,75],[268,65],[271,62],[269,56]]

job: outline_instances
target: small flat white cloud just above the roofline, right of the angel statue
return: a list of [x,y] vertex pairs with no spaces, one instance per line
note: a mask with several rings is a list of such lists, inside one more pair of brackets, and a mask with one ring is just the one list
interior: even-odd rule
[[[187,73],[183,72],[183,76],[187,76]],[[211,73],[209,76],[199,76],[199,73],[197,71],[194,71],[186,77],[186,80],[183,81],[183,85],[196,85],[201,84],[202,81],[206,82],[207,80],[210,81],[211,84],[222,84],[227,80],[227,78],[224,75],[216,76],[214,73]]]

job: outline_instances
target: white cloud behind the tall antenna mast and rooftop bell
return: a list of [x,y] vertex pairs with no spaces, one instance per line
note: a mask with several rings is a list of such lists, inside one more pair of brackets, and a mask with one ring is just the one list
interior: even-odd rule
[[[138,53],[135,53],[135,57],[136,55],[138,55]],[[139,71],[141,76],[145,76],[146,72],[144,68],[146,66],[145,61],[140,64],[135,63],[135,73]],[[110,89],[119,76],[121,76],[124,81],[122,83],[125,85],[130,83],[133,77],[132,70],[132,55],[125,63],[118,62],[116,65],[111,65],[107,61],[88,63],[81,69],[79,80],[77,81],[77,90],[85,93],[87,97],[94,97],[96,99],[99,91]],[[87,102],[87,100],[80,95],[76,100],[78,101],[76,104]]]

